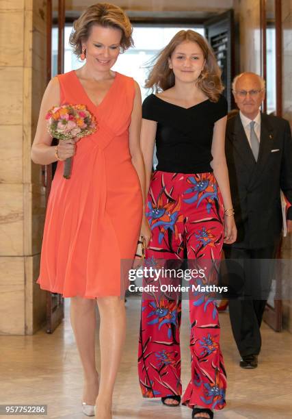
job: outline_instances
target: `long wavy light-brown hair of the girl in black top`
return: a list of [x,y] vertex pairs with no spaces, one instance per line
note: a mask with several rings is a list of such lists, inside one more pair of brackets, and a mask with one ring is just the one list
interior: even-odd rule
[[221,81],[221,71],[217,64],[215,55],[209,46],[207,40],[198,32],[192,31],[179,31],[166,47],[160,51],[155,57],[152,64],[152,70],[146,79],[146,88],[152,88],[153,92],[167,90],[174,86],[175,76],[172,69],[168,66],[168,59],[171,58],[174,49],[181,42],[196,42],[204,55],[204,68],[200,76],[196,80],[196,85],[206,94],[207,97],[213,102],[217,102],[220,93],[224,90]]

